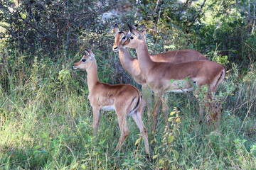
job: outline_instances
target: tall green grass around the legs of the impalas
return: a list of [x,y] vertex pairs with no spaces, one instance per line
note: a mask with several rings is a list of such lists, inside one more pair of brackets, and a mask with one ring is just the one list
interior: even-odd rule
[[[159,115],[152,157],[146,159],[139,129],[129,117],[129,137],[120,151],[114,149],[119,139],[114,112],[102,113],[92,142],[86,73],[72,69],[73,58],[28,58],[1,54],[0,169],[255,169],[255,69],[242,79],[233,70],[218,89],[225,94],[235,83],[234,95],[224,95],[218,130],[199,125],[193,94],[169,94],[170,112],[176,107],[180,122],[170,122],[171,130],[165,131]],[[149,140],[151,120],[144,114]]]

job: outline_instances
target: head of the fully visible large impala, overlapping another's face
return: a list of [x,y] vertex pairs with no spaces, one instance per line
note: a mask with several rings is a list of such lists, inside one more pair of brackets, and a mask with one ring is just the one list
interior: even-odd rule
[[141,30],[137,30],[130,26],[129,27],[129,34],[128,39],[122,43],[122,46],[129,47],[129,48],[137,48],[137,46],[141,43],[144,43],[146,41],[146,29],[144,24],[142,24]]

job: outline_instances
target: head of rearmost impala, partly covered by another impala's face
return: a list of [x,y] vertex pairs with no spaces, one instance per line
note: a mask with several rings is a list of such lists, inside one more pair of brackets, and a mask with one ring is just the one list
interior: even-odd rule
[[120,31],[117,24],[114,25],[114,46],[112,50],[114,52],[118,52],[120,47],[122,47],[122,43],[127,40],[127,33],[124,31]]

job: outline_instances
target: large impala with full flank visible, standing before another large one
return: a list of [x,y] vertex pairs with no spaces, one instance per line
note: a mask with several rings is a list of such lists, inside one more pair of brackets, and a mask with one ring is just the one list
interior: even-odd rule
[[[128,25],[129,26],[129,25]],[[153,129],[156,129],[156,119],[159,113],[159,102],[161,96],[169,91],[186,92],[193,91],[195,85],[201,89],[202,86],[208,85],[206,93],[206,107],[210,111],[210,123],[214,120],[215,126],[218,126],[220,113],[213,105],[212,92],[214,93],[218,85],[225,77],[225,68],[221,64],[210,62],[208,60],[198,60],[193,62],[171,63],[171,62],[154,62],[151,60],[146,45],[146,29],[144,25],[142,30],[136,30],[129,26],[131,34],[129,38],[122,43],[122,46],[135,48],[139,60],[139,69],[146,79],[146,83],[153,89],[157,97],[155,110],[153,113]],[[203,120],[203,108],[199,103],[199,115]]]

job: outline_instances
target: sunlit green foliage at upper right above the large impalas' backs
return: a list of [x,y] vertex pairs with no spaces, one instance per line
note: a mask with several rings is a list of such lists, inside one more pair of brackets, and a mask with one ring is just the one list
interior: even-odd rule
[[251,14],[248,5],[247,1],[143,1],[139,8],[149,34],[149,51],[194,49],[228,68],[233,62],[247,67],[256,58],[255,1],[251,1]]

